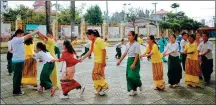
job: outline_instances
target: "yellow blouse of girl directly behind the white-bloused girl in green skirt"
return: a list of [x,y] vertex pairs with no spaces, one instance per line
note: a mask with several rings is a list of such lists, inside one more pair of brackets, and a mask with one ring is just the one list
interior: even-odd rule
[[148,54],[151,51],[152,51],[152,55],[151,55],[152,63],[162,62],[162,54],[160,53],[158,46],[156,44],[154,44],[152,48],[150,48],[150,46],[147,45],[145,54]]

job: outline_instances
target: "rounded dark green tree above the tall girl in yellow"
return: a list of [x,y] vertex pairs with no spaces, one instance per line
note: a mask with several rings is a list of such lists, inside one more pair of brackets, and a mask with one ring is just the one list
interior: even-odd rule
[[103,23],[102,12],[98,5],[91,6],[90,8],[88,8],[84,17],[85,20],[91,25]]

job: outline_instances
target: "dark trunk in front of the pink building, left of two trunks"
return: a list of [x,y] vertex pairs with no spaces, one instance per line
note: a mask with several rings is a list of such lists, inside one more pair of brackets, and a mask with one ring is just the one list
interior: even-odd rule
[[49,32],[51,32],[50,29],[50,1],[46,1],[45,2],[45,6],[46,6],[46,33],[48,34]]

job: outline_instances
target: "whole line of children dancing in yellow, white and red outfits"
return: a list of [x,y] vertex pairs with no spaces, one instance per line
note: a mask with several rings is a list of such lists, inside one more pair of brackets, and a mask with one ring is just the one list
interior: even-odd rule
[[[90,57],[91,53],[94,53],[94,67],[92,70],[92,80],[96,94],[105,95],[109,88],[109,84],[105,79],[105,67],[107,52],[106,40],[100,38],[97,30],[87,30],[87,38],[90,40],[86,44],[85,52],[80,59],[77,59],[76,51],[73,48],[73,43],[70,41],[59,41],[55,44],[52,39],[51,33],[46,36],[41,34],[38,30],[24,35],[24,31],[18,29],[13,36],[13,39],[9,42],[8,57],[12,54],[12,61],[8,61],[8,67],[12,62],[12,70],[9,70],[13,76],[13,94],[23,95],[21,91],[21,84],[37,86],[37,59],[39,62],[43,62],[43,69],[40,74],[40,88],[39,92],[43,92],[44,89],[50,89],[51,96],[54,95],[56,88],[60,87],[63,91],[63,97],[69,98],[68,93],[72,89],[79,89],[82,95],[85,87],[81,86],[74,79],[75,65],[82,62],[85,58]],[[34,49],[33,34],[38,34],[42,42],[36,44],[36,50]],[[164,36],[163,36],[164,37]],[[142,57],[151,58],[153,80],[155,84],[155,90],[164,90],[165,81],[163,79],[163,57],[168,57],[168,83],[170,87],[179,86],[182,78],[182,67],[185,70],[185,83],[188,87],[199,87],[199,77],[204,76],[206,85],[210,82],[210,76],[213,72],[213,58],[212,50],[213,44],[208,41],[208,34],[203,33],[202,38],[199,33],[195,35],[189,35],[182,33],[183,39],[180,42],[181,51],[179,53],[179,46],[176,43],[176,36],[174,34],[169,36],[169,43],[166,43],[165,39],[162,39],[157,44],[155,37],[150,35],[147,37],[147,46],[143,54],[141,54],[140,45],[143,45],[143,36],[138,39],[138,35],[134,31],[128,33],[128,43],[126,44],[126,50],[121,56],[121,46],[125,44],[124,39],[116,45],[116,58],[119,59],[117,65],[120,65],[122,60],[128,56],[126,67],[126,80],[127,90],[129,95],[133,96],[137,94],[137,89],[142,91],[142,82],[140,79],[140,59]],[[196,40],[197,39],[197,40]],[[202,39],[202,40],[201,40]],[[162,43],[162,44],[161,44]],[[167,44],[162,50],[159,48],[162,45]],[[60,52],[61,57],[56,57],[55,46],[62,46]],[[181,55],[180,55],[181,54]],[[180,57],[181,56],[181,57]],[[180,61],[179,58],[182,58]],[[199,59],[200,58],[200,59]],[[66,62],[66,70],[64,70],[60,83],[58,79],[58,72],[55,62]]]

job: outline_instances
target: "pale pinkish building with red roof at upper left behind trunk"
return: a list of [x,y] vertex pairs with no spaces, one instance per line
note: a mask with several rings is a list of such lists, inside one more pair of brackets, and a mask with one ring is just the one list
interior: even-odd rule
[[[52,4],[51,4],[52,6]],[[45,13],[45,1],[35,1],[35,3],[33,4],[34,7],[34,12],[36,13]],[[56,11],[55,10],[51,10],[52,14],[55,14]]]

